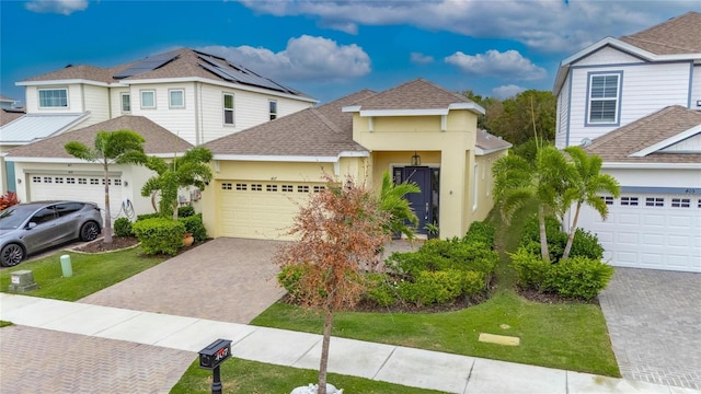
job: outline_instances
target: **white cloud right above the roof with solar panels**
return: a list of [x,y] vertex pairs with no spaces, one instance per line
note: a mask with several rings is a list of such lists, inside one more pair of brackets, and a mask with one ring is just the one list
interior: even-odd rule
[[356,44],[338,45],[324,37],[290,38],[285,50],[208,46],[203,51],[243,65],[280,81],[327,82],[363,77],[370,72],[370,57]]

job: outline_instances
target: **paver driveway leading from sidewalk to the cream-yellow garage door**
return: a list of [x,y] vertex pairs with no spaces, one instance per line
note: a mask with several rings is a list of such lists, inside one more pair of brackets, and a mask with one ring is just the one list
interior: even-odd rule
[[80,302],[246,324],[285,293],[273,264],[283,244],[218,237]]

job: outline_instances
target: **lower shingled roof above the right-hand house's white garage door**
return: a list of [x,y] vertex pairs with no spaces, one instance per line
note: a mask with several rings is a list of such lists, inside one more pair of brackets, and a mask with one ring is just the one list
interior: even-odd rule
[[700,111],[668,106],[595,139],[585,150],[599,155],[604,162],[701,163],[701,153],[656,151],[641,158],[631,157],[698,126],[701,126]]

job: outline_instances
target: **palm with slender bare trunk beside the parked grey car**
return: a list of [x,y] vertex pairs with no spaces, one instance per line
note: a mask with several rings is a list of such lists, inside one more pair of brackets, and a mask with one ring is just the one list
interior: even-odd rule
[[68,154],[93,163],[102,163],[105,172],[105,239],[104,243],[112,243],[112,217],[110,211],[110,164],[143,164],[147,155],[143,153],[146,140],[131,130],[104,131],[95,135],[95,147],[90,149],[82,142],[69,141],[64,148]]

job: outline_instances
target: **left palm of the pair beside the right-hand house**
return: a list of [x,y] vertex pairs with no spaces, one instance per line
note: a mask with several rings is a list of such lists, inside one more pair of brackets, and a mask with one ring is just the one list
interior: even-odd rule
[[562,216],[565,211],[562,196],[572,177],[565,157],[554,147],[545,146],[538,149],[535,161],[518,155],[498,159],[493,173],[494,196],[507,222],[527,201],[538,201],[540,253],[543,260],[550,262],[545,215]]

